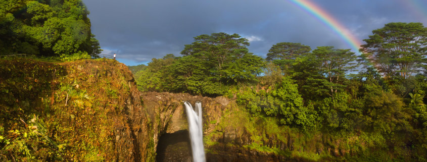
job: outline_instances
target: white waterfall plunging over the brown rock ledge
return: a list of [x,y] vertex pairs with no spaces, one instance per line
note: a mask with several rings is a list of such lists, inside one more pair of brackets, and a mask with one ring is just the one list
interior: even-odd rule
[[185,101],[184,104],[185,111],[187,112],[188,129],[193,150],[193,161],[206,161],[205,148],[203,147],[202,103],[196,102],[196,110],[193,110],[193,106],[190,103]]

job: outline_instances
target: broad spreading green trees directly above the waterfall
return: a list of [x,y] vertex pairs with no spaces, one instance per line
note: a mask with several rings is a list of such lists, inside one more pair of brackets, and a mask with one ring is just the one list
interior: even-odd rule
[[248,45],[238,34],[199,35],[185,45],[183,57],[153,59],[137,72],[138,89],[218,96],[230,86],[256,82],[264,62],[248,51]]

